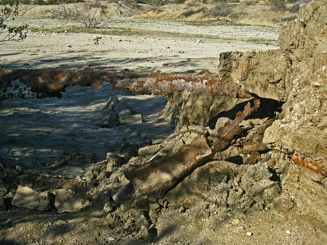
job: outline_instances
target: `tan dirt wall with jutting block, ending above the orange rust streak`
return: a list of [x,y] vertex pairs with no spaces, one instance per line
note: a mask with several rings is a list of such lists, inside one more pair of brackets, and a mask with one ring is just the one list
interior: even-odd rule
[[260,97],[285,102],[263,142],[300,157],[295,164],[308,158],[312,170],[322,169],[320,174],[327,170],[326,23],[326,1],[313,1],[301,7],[297,20],[283,27],[280,50],[223,53],[219,64],[222,79],[232,79]]

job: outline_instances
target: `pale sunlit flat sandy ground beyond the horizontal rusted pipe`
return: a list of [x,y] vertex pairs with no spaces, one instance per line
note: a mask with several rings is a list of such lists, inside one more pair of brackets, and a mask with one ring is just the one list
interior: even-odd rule
[[[18,21],[19,20],[19,21]],[[0,64],[8,68],[60,68],[74,70],[217,72],[219,54],[278,48],[280,27],[205,26],[188,22],[110,18],[104,21],[111,35],[69,33],[80,24],[58,19],[19,17],[31,30],[24,42],[1,45]],[[102,37],[95,44],[95,36]],[[224,39],[220,39],[224,38]],[[246,41],[254,42],[246,42]],[[274,45],[255,42],[272,43]]]

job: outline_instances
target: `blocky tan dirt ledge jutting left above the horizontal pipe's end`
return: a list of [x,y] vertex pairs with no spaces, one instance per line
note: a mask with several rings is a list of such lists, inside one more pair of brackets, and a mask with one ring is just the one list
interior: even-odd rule
[[232,79],[249,93],[262,98],[286,101],[290,61],[281,50],[227,52],[220,54],[221,79]]

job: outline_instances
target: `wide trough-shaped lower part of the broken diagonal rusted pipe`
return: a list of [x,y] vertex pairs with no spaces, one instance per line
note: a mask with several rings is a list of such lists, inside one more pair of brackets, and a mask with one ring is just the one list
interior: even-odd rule
[[166,190],[183,176],[189,175],[211,154],[206,138],[201,136],[169,156],[129,167],[124,175],[133,184],[136,197],[148,193],[162,197]]

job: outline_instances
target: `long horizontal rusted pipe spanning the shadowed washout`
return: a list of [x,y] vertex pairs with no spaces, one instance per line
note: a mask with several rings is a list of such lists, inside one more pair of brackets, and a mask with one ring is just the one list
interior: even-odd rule
[[1,70],[0,80],[9,79],[25,83],[33,92],[51,96],[68,86],[90,86],[99,89],[103,82],[110,82],[113,89],[126,89],[136,94],[178,93],[180,90],[228,95],[244,99],[252,96],[232,81],[218,75],[172,75],[163,73],[138,73],[58,70]]

